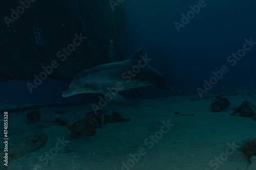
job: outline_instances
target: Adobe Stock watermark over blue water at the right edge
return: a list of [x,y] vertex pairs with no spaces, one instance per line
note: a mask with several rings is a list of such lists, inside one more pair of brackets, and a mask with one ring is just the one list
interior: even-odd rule
[[[244,39],[245,43],[243,45],[243,48],[240,48],[237,53],[232,53],[232,55],[227,57],[227,62],[233,67],[237,64],[237,61],[240,61],[241,58],[243,58],[246,54],[246,52],[250,51],[251,48],[256,44],[256,42],[252,41],[252,38],[248,40],[247,38]],[[219,80],[221,80],[224,76],[229,71],[229,68],[227,65],[222,65],[220,67],[220,70],[218,71],[211,71],[214,76],[209,78],[209,81],[204,79],[204,86],[203,88],[197,87],[197,92],[202,98],[203,93],[207,93],[212,86],[216,85]]]

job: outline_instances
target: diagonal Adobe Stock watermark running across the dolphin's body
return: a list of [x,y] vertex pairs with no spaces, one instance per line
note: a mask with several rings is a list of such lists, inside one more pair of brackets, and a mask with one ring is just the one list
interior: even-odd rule
[[[140,60],[138,61],[137,65],[134,65],[132,68],[127,69],[125,72],[122,73],[122,79],[125,80],[126,83],[130,83],[131,80],[140,72],[141,68],[145,67],[148,61],[151,61],[151,58],[140,56]],[[104,98],[99,95],[99,102],[98,105],[92,104],[92,109],[94,110],[94,113],[97,114],[98,109],[102,109],[105,107],[108,102],[110,102],[117,94],[118,91],[122,90],[124,88],[124,84],[122,82],[117,82],[115,84],[115,87],[108,87],[106,88],[109,93],[104,94]]]

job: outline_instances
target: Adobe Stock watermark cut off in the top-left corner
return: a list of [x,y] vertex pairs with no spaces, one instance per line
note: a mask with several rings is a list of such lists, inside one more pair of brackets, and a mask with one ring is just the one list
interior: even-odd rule
[[15,20],[17,20],[19,16],[22,15],[25,12],[25,10],[30,7],[30,3],[34,3],[35,1],[36,0],[20,0],[20,6],[18,6],[16,10],[14,10],[13,8],[11,9],[11,17],[4,17],[7,27],[9,28],[10,23],[15,22]]

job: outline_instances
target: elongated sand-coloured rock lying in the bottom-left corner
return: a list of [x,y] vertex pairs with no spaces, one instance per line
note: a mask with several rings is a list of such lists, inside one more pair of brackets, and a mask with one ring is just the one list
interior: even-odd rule
[[[8,165],[12,161],[20,157],[23,157],[24,155],[35,152],[38,149],[44,147],[46,141],[47,141],[47,134],[39,131],[21,139],[19,142],[13,145],[10,145],[9,143],[8,144]],[[5,156],[5,153],[7,152],[1,151],[0,157],[3,158]],[[3,163],[0,164],[1,170],[6,169],[7,167],[8,166],[5,166]]]

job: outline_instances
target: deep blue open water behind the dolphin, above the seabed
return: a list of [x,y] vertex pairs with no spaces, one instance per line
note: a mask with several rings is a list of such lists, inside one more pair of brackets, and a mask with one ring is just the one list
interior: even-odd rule
[[[143,55],[152,58],[149,65],[163,74],[169,86],[182,90],[142,87],[142,99],[197,94],[197,87],[203,88],[204,79],[209,80],[212,71],[220,70],[222,65],[227,65],[229,72],[209,93],[255,88],[256,45],[233,67],[226,59],[243,47],[244,39],[256,41],[256,2],[207,0],[206,6],[178,32],[174,22],[181,22],[181,14],[186,15],[191,10],[189,6],[198,2],[125,0],[121,4],[129,18],[119,35],[126,57],[143,48]],[[62,98],[69,84],[51,79],[44,80],[30,93],[26,82],[0,83],[0,103],[56,104],[96,101],[98,96],[79,94]]]

